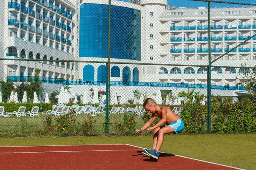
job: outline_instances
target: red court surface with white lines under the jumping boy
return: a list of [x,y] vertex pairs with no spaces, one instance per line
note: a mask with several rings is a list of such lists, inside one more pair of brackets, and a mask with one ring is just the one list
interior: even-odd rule
[[160,153],[158,160],[128,144],[0,147],[3,170],[238,170]]

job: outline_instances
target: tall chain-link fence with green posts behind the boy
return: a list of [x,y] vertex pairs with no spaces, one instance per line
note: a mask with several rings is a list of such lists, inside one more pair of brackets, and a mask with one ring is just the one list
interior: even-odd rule
[[183,133],[256,131],[252,0],[0,5],[0,136],[134,134],[146,98]]

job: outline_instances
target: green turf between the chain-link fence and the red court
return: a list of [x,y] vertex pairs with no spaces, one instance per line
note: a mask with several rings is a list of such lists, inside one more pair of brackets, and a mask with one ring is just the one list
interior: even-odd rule
[[[167,135],[164,140],[162,152],[255,170],[256,133]],[[0,146],[132,144],[149,148],[151,143],[152,136],[0,138]]]

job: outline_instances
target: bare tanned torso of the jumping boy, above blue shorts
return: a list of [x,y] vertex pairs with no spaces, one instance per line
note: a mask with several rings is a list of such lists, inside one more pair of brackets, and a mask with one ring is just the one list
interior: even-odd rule
[[175,114],[170,108],[167,108],[166,106],[159,106],[158,107],[161,109],[161,111],[158,113],[153,113],[156,114],[155,116],[158,116],[162,119],[163,114],[167,114],[167,119],[166,119],[166,123],[167,124],[171,124],[173,122],[175,122],[177,119],[180,119],[180,116],[178,116],[177,114]]

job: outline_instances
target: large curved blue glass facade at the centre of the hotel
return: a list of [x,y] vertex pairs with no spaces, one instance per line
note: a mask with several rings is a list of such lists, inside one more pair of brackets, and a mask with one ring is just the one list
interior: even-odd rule
[[[108,57],[108,5],[80,6],[79,57]],[[111,6],[111,58],[141,59],[141,14]]]

